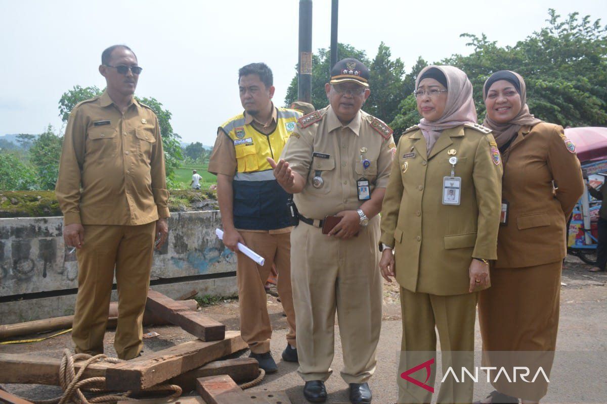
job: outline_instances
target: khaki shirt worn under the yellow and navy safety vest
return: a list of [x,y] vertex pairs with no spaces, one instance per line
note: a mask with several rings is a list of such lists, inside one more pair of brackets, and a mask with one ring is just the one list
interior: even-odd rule
[[[261,133],[269,134],[276,129],[276,122],[278,114],[276,107],[272,104],[272,118],[265,125],[257,122],[253,116],[249,115],[245,111],[245,125],[253,125],[256,130]],[[217,137],[215,138],[215,145],[211,157],[209,157],[209,173],[211,174],[224,174],[228,176],[234,176],[236,174],[237,162],[236,162],[236,150],[234,150],[234,142],[219,128],[217,130]],[[293,227],[285,227],[274,230],[242,230],[238,231],[249,231],[253,233],[270,233],[270,234],[283,234],[290,233]]]

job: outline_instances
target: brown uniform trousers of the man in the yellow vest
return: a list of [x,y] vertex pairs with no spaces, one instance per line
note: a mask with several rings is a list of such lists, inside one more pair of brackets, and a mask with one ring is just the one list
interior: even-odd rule
[[246,247],[265,258],[261,267],[245,254],[237,253],[240,336],[249,345],[251,352],[263,354],[270,351],[272,326],[264,286],[272,264],[275,263],[278,294],[291,328],[287,342],[296,347],[295,310],[291,291],[291,233],[270,234],[246,230],[239,230],[239,233],[245,240]]

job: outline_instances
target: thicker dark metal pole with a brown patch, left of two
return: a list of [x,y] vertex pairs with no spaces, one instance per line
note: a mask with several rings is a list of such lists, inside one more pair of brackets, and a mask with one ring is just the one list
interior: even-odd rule
[[297,100],[312,102],[312,0],[299,0]]

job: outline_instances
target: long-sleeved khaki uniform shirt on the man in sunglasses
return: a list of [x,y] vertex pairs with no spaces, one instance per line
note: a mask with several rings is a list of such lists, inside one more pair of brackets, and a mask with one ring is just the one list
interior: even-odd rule
[[141,225],[169,217],[154,111],[134,99],[123,114],[107,92],[76,105],[56,194],[65,225]]

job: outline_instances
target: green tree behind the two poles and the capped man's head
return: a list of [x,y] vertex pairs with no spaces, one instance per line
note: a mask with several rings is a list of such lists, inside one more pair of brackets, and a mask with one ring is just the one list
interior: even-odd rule
[[[337,45],[337,59],[354,58],[369,66],[364,50],[358,50],[351,45]],[[312,104],[314,108],[320,109],[328,105],[327,94],[325,93],[325,84],[331,78],[329,65],[331,63],[331,50],[321,48],[316,55],[312,55]],[[287,88],[285,96],[285,106],[288,107],[292,102],[297,101],[297,66],[295,67],[295,76]]]

